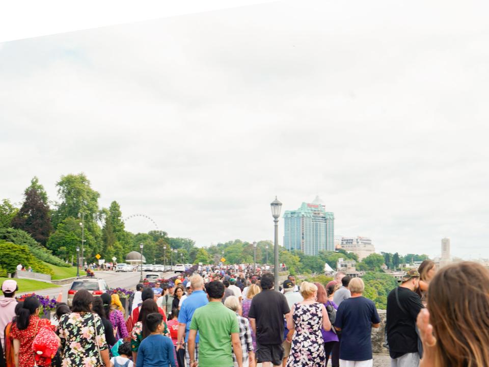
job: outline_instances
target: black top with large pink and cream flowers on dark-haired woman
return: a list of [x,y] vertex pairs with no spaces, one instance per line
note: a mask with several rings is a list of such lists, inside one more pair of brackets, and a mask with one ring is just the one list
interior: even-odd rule
[[100,350],[108,348],[100,317],[91,312],[70,312],[60,318],[63,367],[99,367]]

